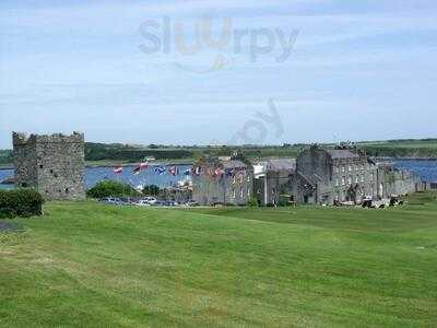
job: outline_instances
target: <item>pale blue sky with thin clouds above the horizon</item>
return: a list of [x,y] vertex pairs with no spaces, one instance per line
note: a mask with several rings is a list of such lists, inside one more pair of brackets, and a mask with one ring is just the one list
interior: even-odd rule
[[[140,26],[154,23],[147,31],[164,40],[167,17],[172,35],[194,44],[205,16],[214,37],[228,19],[233,33],[273,33],[273,46],[256,61],[250,37],[236,52],[234,34],[191,55],[174,38],[169,51],[141,50],[151,43]],[[222,144],[248,124],[263,143],[437,137],[436,16],[432,0],[3,0],[0,148],[11,148],[12,130]],[[282,62],[276,31],[297,33]],[[270,98],[281,133],[260,118]]]

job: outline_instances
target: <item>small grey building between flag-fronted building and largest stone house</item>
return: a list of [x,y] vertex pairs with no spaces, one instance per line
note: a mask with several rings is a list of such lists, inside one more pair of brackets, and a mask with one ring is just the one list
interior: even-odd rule
[[279,204],[281,195],[287,194],[287,184],[295,174],[296,161],[274,159],[258,163],[260,169],[255,175],[253,192],[261,206]]

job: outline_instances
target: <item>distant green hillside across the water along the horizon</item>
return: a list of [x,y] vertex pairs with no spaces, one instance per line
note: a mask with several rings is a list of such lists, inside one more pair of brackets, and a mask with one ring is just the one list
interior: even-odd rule
[[[332,147],[332,144],[324,144]],[[363,141],[356,145],[370,156],[383,157],[413,157],[437,159],[437,139],[406,139],[389,141]],[[138,162],[144,157],[155,157],[162,161],[186,160],[192,161],[202,155],[229,155],[234,151],[243,151],[250,159],[258,157],[295,157],[299,150],[308,144],[284,145],[244,145],[244,147],[215,147],[215,145],[132,145],[121,143],[93,143],[85,145],[85,159],[88,162],[122,161]],[[0,150],[0,165],[12,164],[12,151]]]

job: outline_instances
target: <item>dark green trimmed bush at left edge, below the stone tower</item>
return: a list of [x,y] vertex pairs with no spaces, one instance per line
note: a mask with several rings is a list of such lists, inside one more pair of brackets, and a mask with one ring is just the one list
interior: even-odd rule
[[0,190],[0,218],[40,215],[43,203],[35,189]]

